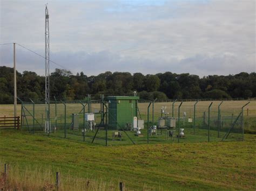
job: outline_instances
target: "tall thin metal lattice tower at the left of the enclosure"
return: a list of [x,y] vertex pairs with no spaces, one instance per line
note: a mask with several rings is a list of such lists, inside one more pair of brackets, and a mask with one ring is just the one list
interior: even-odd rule
[[49,15],[47,5],[45,7],[45,132],[51,131],[50,124],[50,66],[49,66]]

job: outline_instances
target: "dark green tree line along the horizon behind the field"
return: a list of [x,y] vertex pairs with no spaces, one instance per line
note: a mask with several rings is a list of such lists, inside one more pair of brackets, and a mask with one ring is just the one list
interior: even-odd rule
[[[45,77],[24,71],[17,75],[17,96],[43,101]],[[86,76],[83,72],[73,75],[69,70],[55,69],[50,76],[51,99],[82,100],[88,94],[134,95],[142,100],[168,99],[224,99],[256,97],[256,73],[241,72],[235,75],[208,75],[199,77],[189,73],[172,72],[156,75],[142,73],[105,72]],[[14,69],[0,67],[0,104],[13,103]]]

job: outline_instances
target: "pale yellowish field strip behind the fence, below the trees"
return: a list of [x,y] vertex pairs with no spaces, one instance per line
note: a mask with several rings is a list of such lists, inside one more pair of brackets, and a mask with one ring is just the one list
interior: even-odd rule
[[[231,116],[232,114],[238,115],[241,111],[241,107],[246,104],[248,101],[224,101],[223,104],[221,104],[221,113],[224,116]],[[245,116],[247,116],[247,109],[248,109],[248,117],[256,117],[256,101],[250,101],[251,103],[248,104],[245,108]],[[183,112],[187,113],[188,117],[193,117],[193,105],[196,102],[183,102],[183,105],[180,108],[181,114]],[[210,105],[211,101],[200,101],[197,104],[197,112],[196,116],[201,117],[203,116],[204,111],[208,111],[208,105]],[[174,116],[178,116],[178,105],[180,102],[176,102],[174,104]],[[213,101],[211,111],[213,116],[217,116],[218,114],[218,105],[220,104],[220,101]],[[147,113],[147,106],[149,103],[139,103],[139,110],[142,114],[143,118],[146,117]],[[166,106],[166,111],[172,114],[172,102],[156,102],[154,104],[154,114],[157,119],[158,116],[160,116],[160,109],[162,106]],[[26,104],[26,107],[32,109],[32,105]],[[64,113],[64,105],[63,104],[57,104],[58,113],[63,114]],[[79,103],[71,103],[67,104],[67,114],[71,115],[74,112],[79,112],[82,109],[82,105]],[[99,110],[100,105],[99,104],[92,104],[92,111]],[[44,114],[45,108],[44,104],[36,104],[36,109],[39,114]],[[52,115],[55,111],[55,105],[51,104],[51,112]],[[17,107],[18,114],[21,114],[21,104],[18,104]],[[7,105],[0,105],[0,116],[13,116],[14,115],[14,105],[7,104]]]

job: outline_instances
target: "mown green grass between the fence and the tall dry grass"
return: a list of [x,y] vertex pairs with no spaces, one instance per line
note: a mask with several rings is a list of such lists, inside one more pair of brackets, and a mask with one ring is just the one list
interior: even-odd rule
[[142,144],[104,147],[55,137],[0,131],[0,160],[51,167],[53,173],[103,181],[126,188],[256,188],[256,136],[245,142]]

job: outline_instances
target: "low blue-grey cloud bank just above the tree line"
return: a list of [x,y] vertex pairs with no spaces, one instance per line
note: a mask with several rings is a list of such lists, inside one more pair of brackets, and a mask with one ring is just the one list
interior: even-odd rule
[[[1,52],[9,54],[10,48],[1,48]],[[30,52],[18,49],[17,53],[17,69],[19,72],[23,70],[32,70],[41,75],[44,74],[44,59],[40,57],[34,58]],[[73,74],[84,72],[86,75],[98,75],[105,71],[111,72],[140,72],[143,74],[156,74],[170,71],[173,73],[191,73],[199,76],[208,74],[236,74],[239,72],[255,71],[255,61],[253,58],[237,57],[233,54],[223,55],[204,55],[197,54],[185,59],[146,59],[134,58],[131,56],[120,56],[119,54],[103,51],[103,52],[56,52],[51,55],[52,60],[58,60],[58,63],[66,69],[70,69]],[[3,65],[12,66],[12,55],[2,56],[1,63]],[[245,65],[246,63],[246,65]],[[2,65],[2,64],[1,64]],[[59,66],[50,63],[51,72]]]

